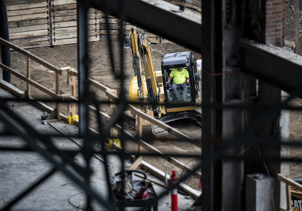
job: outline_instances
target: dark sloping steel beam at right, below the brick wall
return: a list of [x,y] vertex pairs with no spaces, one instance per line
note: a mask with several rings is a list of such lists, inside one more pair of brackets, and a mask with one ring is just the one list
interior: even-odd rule
[[[244,49],[244,73],[302,97],[302,57],[277,46],[241,41]],[[297,90],[297,89],[300,89]]]

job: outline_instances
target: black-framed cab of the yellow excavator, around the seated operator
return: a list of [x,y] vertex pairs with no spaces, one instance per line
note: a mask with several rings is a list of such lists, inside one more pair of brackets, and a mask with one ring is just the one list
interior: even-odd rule
[[[168,83],[168,78],[174,68],[182,67],[188,70],[189,83],[187,93],[178,85],[177,91],[172,90],[172,83]],[[191,51],[164,54],[161,62],[162,79],[165,82],[165,105],[167,112],[193,110],[199,97],[199,73],[196,70],[194,55]]]

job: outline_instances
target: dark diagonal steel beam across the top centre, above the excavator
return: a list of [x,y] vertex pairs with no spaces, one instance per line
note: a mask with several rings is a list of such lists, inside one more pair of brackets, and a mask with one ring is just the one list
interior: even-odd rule
[[[108,2],[86,0],[85,5],[119,18],[121,11],[117,5],[120,1]],[[124,0],[121,8],[124,21],[201,52],[201,15],[186,9],[181,11],[179,6],[162,0]]]

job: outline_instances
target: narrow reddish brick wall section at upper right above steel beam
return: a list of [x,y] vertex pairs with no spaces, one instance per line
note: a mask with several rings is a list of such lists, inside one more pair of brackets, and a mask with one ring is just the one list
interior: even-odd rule
[[265,44],[283,46],[285,28],[285,0],[266,0]]

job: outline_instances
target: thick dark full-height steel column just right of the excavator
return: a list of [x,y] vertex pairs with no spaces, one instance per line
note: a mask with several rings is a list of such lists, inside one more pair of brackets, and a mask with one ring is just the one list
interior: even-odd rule
[[[222,71],[222,0],[202,2],[202,103],[221,103]],[[209,40],[210,39],[210,40]],[[202,210],[221,210],[221,161],[209,160],[215,153],[214,143],[221,138],[221,111],[203,107],[202,127]]]

